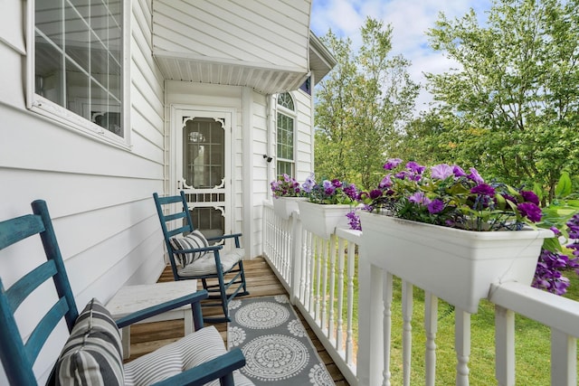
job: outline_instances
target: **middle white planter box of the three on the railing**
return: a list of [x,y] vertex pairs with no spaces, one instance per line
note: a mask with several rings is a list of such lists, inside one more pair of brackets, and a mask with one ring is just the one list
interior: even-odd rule
[[329,239],[337,227],[349,227],[346,214],[353,209],[350,205],[299,201],[298,206],[302,227],[323,239]]

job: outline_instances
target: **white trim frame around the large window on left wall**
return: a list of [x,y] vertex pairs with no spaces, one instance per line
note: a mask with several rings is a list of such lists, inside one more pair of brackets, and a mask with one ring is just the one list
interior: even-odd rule
[[37,113],[43,118],[49,119],[51,122],[57,123],[62,127],[69,128],[73,131],[79,132],[86,137],[98,139],[100,141],[109,143],[113,146],[118,146],[127,150],[132,148],[130,141],[130,16],[131,16],[130,0],[123,0],[123,85],[122,85],[122,117],[124,137],[116,136],[109,132],[104,127],[90,122],[86,118],[74,114],[67,108],[52,102],[52,100],[45,99],[35,92],[34,81],[34,2],[26,2],[26,74],[25,74],[25,96],[26,108]]

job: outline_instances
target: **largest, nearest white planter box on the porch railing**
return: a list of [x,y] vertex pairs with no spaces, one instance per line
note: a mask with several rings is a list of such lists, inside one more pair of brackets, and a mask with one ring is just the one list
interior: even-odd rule
[[463,231],[362,211],[372,264],[475,314],[491,283],[530,285],[552,231]]

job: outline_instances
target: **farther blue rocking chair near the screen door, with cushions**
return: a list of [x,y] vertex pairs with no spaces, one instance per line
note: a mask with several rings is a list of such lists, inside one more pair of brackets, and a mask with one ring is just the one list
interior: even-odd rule
[[[205,238],[196,231],[187,206],[185,192],[179,195],[159,197],[153,193],[161,229],[165,238],[169,262],[175,280],[200,279],[209,292],[210,299],[218,302],[204,303],[203,306],[221,306],[223,317],[205,317],[205,322],[231,322],[228,305],[233,297],[249,295],[243,271],[244,251],[240,245],[241,233]],[[177,209],[175,208],[175,205]],[[209,245],[210,242],[233,239],[235,249],[223,252],[223,245]],[[217,283],[208,282],[216,280]]]

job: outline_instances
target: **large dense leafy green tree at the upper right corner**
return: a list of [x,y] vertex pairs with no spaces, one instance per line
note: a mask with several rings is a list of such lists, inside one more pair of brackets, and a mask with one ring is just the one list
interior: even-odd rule
[[579,166],[579,1],[494,0],[486,25],[473,10],[441,14],[429,35],[459,64],[427,74],[457,120],[443,133],[453,155],[509,184],[538,183],[550,201],[560,173]]

